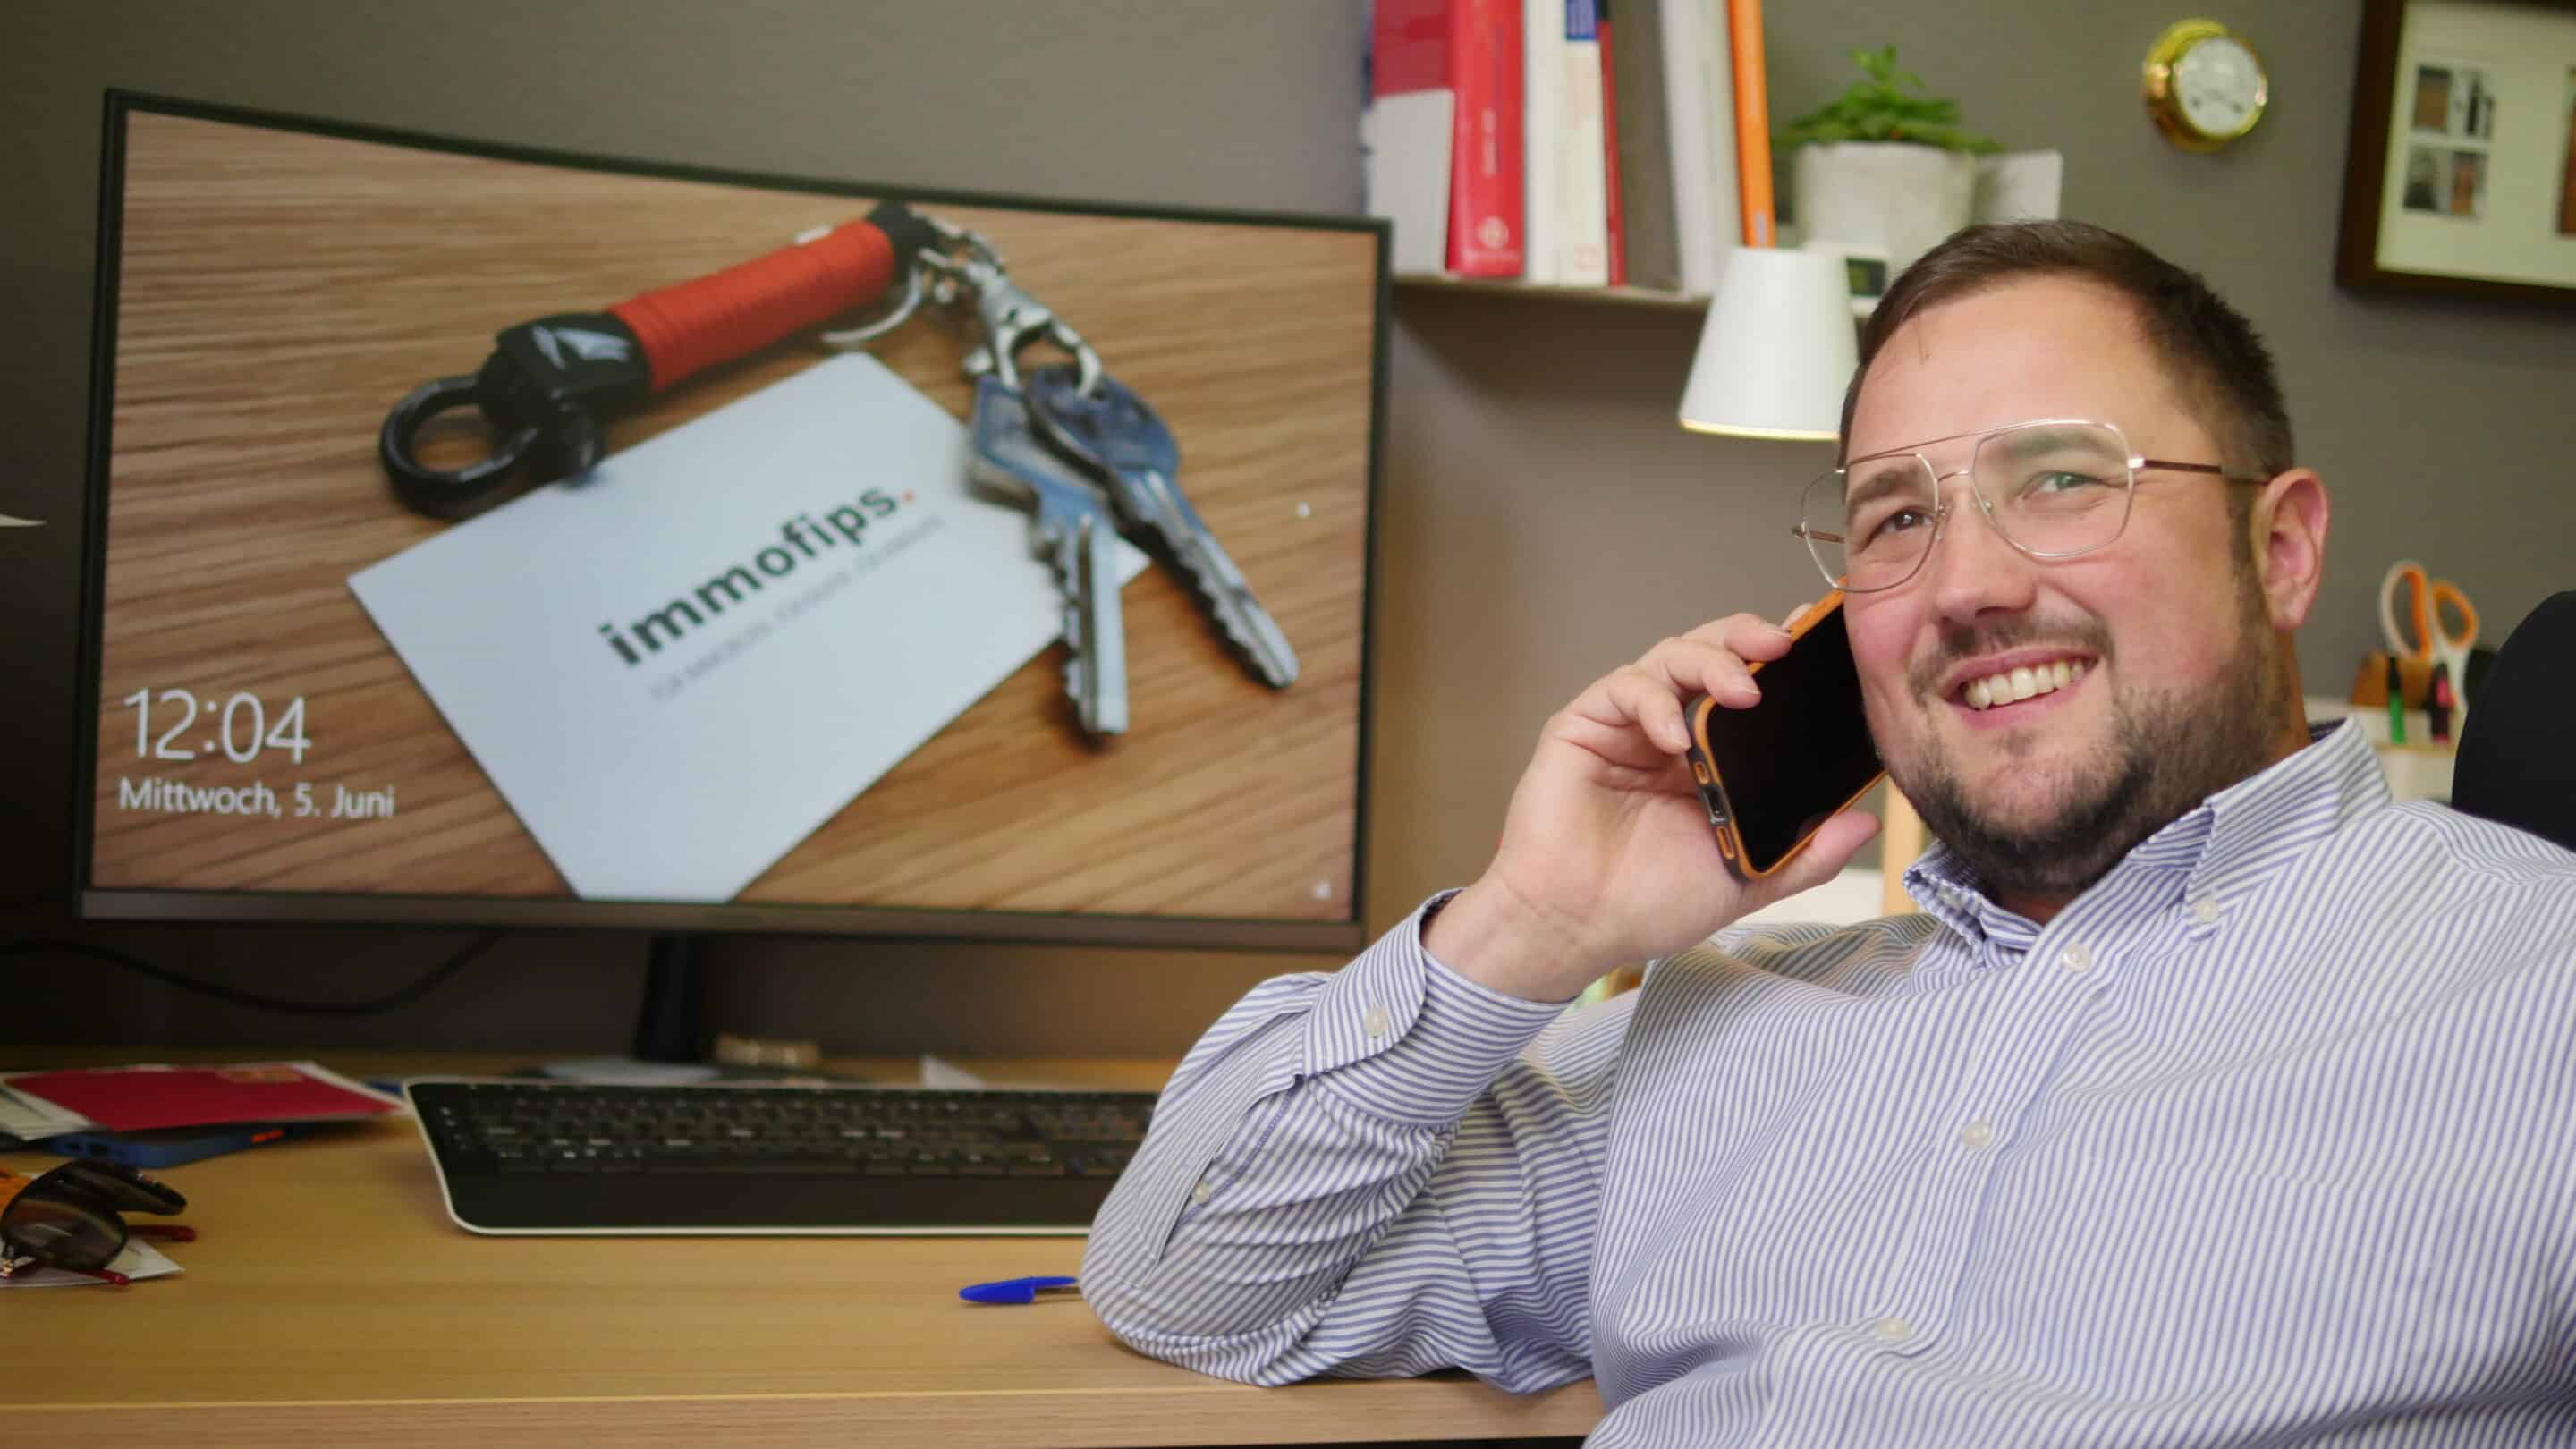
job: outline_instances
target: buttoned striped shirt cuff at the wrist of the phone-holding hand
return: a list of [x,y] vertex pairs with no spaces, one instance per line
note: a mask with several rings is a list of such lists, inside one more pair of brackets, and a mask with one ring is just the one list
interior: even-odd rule
[[1481,987],[1422,949],[1435,895],[1316,993],[1303,1073],[1370,1116],[1450,1127],[1566,1003]]

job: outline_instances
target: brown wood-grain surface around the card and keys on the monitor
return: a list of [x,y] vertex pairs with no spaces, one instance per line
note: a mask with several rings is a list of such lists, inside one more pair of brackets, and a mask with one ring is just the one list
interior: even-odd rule
[[[350,575],[451,529],[397,500],[376,431],[502,327],[750,260],[871,204],[131,111],[90,887],[569,897],[350,593]],[[734,900],[1352,918],[1376,235],[914,204],[989,237],[1167,418],[1182,487],[1301,676],[1249,678],[1151,565],[1123,593],[1126,735],[1082,740],[1048,647]],[[963,420],[971,345],[925,309],[871,351]],[[788,338],[688,379],[621,415],[608,456],[829,356]],[[422,436],[438,467],[482,449],[471,425]]]

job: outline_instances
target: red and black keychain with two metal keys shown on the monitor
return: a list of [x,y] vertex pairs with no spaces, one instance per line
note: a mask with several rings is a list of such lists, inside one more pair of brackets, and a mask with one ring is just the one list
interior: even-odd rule
[[[528,487],[580,477],[605,451],[605,418],[726,361],[878,302],[878,320],[822,330],[837,351],[868,348],[922,302],[971,315],[961,371],[976,382],[969,469],[976,485],[1030,511],[1030,549],[1064,596],[1064,688],[1082,735],[1126,732],[1126,642],[1115,547],[1131,534],[1190,583],[1200,614],[1252,678],[1288,688],[1298,655],[1180,485],[1180,443],[1100,353],[1030,297],[976,232],[884,201],[863,222],[806,232],[796,245],[714,276],[647,291],[608,312],[567,312],[507,327],[482,371],[412,389],[384,418],[379,454],[417,513],[466,518]],[[1023,371],[1051,345],[1069,361]],[[412,456],[422,423],[474,405],[500,446],[464,469]]]

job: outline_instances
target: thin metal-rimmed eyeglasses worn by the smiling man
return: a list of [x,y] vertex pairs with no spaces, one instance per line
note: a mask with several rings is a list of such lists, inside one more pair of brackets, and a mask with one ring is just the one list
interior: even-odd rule
[[[1924,449],[1960,438],[1976,438],[1968,467],[1940,472],[1924,456]],[[2035,559],[2071,559],[2110,547],[2128,529],[2143,469],[2269,482],[2221,464],[2141,459],[2110,423],[2038,418],[1852,459],[1806,485],[1790,531],[1806,539],[1806,552],[1834,588],[1896,588],[1924,567],[1950,516],[1940,485],[1968,474],[1978,513],[2007,544]]]

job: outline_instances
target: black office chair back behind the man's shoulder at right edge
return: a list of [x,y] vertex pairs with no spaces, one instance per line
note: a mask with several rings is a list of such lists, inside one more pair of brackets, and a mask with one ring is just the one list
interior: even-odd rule
[[2576,590],[2514,627],[2460,724],[2450,804],[2576,851]]

